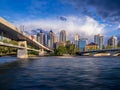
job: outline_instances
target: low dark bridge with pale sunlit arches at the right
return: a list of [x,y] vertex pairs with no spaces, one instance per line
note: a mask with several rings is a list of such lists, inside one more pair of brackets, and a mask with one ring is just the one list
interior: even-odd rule
[[102,49],[102,50],[88,50],[77,53],[80,56],[119,56],[120,48]]

